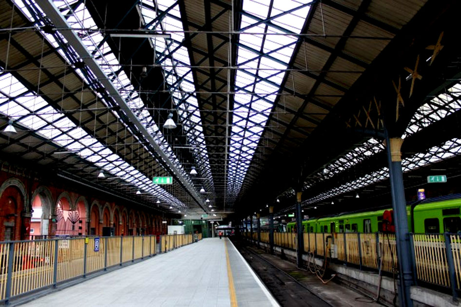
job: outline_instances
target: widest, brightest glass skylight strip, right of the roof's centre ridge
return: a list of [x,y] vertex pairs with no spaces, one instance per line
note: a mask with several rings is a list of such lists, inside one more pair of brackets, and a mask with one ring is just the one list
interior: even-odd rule
[[[242,187],[298,40],[296,36],[274,34],[299,34],[309,4],[287,0],[274,0],[272,5],[270,0],[243,1],[245,14],[237,49],[237,66],[241,69],[235,78],[227,175],[231,202]],[[271,25],[259,22],[268,18],[272,18]]]

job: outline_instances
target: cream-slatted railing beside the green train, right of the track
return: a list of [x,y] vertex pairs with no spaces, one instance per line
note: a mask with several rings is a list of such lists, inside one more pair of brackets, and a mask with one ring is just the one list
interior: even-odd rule
[[[244,235],[250,239],[250,233]],[[461,291],[461,234],[410,233],[409,238],[415,284],[451,288],[457,298]],[[257,233],[253,240],[257,240]],[[261,242],[269,243],[269,232],[261,232]],[[275,232],[274,245],[296,249],[296,233]],[[382,262],[383,271],[398,271],[392,233],[304,233],[304,251],[360,269],[379,269]]]

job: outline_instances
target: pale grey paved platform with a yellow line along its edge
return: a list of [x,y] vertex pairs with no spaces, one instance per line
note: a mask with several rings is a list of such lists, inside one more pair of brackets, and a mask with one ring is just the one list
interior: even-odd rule
[[275,307],[229,239],[209,238],[21,306]]

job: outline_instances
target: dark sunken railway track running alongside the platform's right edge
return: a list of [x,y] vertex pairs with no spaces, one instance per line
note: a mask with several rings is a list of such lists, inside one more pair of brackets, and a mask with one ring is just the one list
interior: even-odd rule
[[261,278],[281,306],[333,306],[286,271],[246,247],[242,242],[232,241],[232,243],[234,243],[235,247],[258,274],[259,278]]

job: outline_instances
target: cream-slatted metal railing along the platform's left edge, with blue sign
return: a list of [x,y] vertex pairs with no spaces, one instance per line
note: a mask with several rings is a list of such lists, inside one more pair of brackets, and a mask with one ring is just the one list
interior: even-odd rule
[[[199,235],[201,239],[201,234]],[[192,234],[162,235],[161,252],[192,243]],[[157,253],[155,235],[0,242],[0,301]]]

